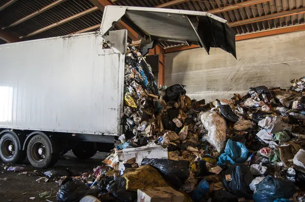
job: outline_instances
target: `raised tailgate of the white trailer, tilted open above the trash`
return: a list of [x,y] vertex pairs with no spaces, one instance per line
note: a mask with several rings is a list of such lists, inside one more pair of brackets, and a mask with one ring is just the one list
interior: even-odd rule
[[235,33],[227,20],[206,12],[174,9],[107,6],[100,34],[105,35],[120,19],[145,40],[141,52],[147,54],[158,41],[196,44],[209,53],[210,47],[221,48],[236,58]]

